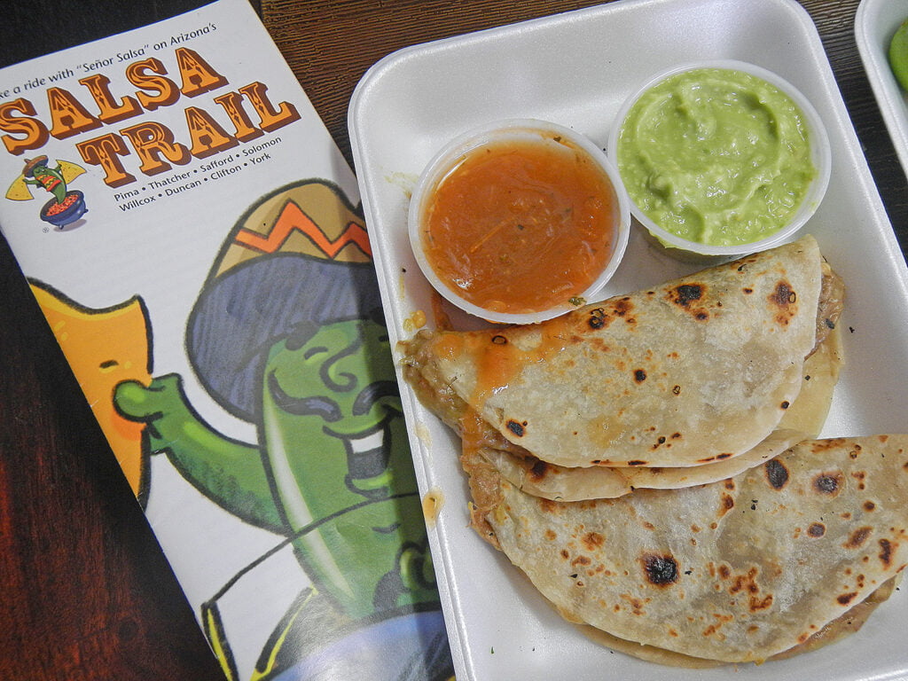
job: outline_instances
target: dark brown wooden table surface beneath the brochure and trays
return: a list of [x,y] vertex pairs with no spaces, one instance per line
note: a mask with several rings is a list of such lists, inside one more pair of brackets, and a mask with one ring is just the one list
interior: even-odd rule
[[[0,66],[201,5],[15,0]],[[380,57],[431,39],[596,5],[568,0],[253,3],[350,163],[347,105]],[[823,37],[903,252],[908,186],[854,43],[859,0],[801,0]],[[66,26],[61,42],[60,27]],[[101,430],[0,238],[0,678],[223,676]]]

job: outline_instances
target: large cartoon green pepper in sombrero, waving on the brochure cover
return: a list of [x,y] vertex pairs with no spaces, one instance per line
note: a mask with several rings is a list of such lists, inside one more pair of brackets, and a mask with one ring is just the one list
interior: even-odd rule
[[[311,578],[258,677],[452,676],[369,242],[336,188],[301,183],[243,216],[186,344],[214,400],[256,424],[257,445],[203,423],[175,375],[122,383],[115,400],[205,495],[285,535]],[[341,668],[381,650],[376,669]]]

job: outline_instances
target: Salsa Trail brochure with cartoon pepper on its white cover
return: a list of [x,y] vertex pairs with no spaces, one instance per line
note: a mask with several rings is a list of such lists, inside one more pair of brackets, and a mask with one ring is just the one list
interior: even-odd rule
[[230,679],[449,679],[357,183],[247,0],[0,70],[0,230]]

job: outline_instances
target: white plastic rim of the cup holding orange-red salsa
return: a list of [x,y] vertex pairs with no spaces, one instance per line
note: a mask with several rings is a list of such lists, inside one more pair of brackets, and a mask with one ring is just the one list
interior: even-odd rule
[[[556,137],[559,139],[558,142],[554,141]],[[615,223],[615,236],[612,240],[611,254],[605,266],[597,273],[592,283],[578,294],[585,301],[594,300],[598,291],[601,291],[602,287],[615,274],[627,248],[627,237],[630,234],[630,210],[627,192],[624,190],[624,185],[621,183],[617,169],[608,160],[606,154],[587,137],[564,125],[522,118],[508,119],[506,121],[493,121],[483,124],[479,128],[451,140],[439,150],[439,153],[429,162],[420,176],[416,189],[413,190],[413,195],[410,198],[408,226],[410,246],[416,256],[416,262],[419,263],[419,269],[422,270],[422,273],[436,291],[439,291],[441,295],[461,310],[480,319],[508,324],[529,324],[557,317],[559,314],[564,314],[576,308],[577,305],[572,305],[568,300],[565,300],[546,310],[535,312],[505,312],[480,307],[468,301],[460,295],[456,288],[449,285],[448,281],[439,277],[432,268],[423,248],[424,216],[427,205],[431,202],[433,192],[439,186],[439,183],[470,153],[490,144],[512,141],[530,141],[553,145],[564,144],[573,147],[586,153],[597,164],[602,173],[606,175],[608,182],[611,184],[614,200],[617,203],[617,222]],[[608,199],[611,201],[612,197],[608,197]]]

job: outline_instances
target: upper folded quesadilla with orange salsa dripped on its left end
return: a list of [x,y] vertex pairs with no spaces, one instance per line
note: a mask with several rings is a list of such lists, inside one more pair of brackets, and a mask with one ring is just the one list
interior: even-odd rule
[[549,464],[702,466],[779,426],[827,279],[806,236],[541,324],[420,331],[404,375],[449,422],[475,412]]

